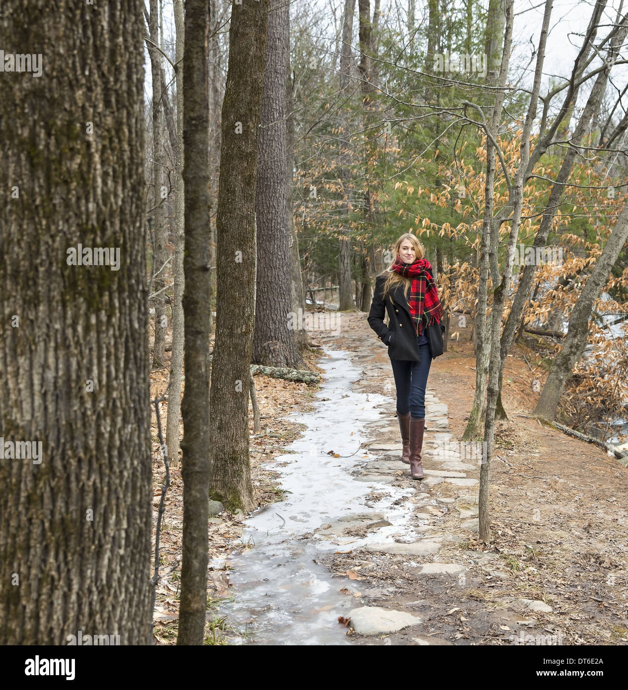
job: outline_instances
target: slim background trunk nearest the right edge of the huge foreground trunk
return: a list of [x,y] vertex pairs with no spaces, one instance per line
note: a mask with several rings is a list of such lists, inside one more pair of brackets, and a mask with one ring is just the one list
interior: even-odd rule
[[153,368],[164,366],[166,355],[166,328],[168,317],[166,316],[166,225],[164,224],[164,142],[161,128],[161,53],[159,46],[159,23],[157,14],[157,0],[150,0],[150,17],[148,31],[150,34],[149,50],[150,73],[153,83],[153,282],[151,289],[157,293],[153,297],[155,305],[155,342],[153,344]]

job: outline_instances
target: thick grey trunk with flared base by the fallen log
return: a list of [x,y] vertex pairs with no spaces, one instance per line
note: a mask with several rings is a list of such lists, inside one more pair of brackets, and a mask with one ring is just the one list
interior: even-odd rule
[[292,310],[286,171],[288,7],[283,0],[271,0],[272,21],[268,22],[255,204],[257,299],[253,361],[298,369],[305,368],[305,363],[297,348],[295,333],[288,326],[288,315]]

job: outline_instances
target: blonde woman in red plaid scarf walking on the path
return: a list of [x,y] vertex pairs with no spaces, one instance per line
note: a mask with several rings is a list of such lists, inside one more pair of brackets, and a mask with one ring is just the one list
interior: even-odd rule
[[[388,345],[397,388],[401,459],[410,464],[413,479],[423,479],[425,389],[431,361],[443,351],[442,306],[432,266],[418,239],[405,233],[395,243],[394,255],[389,269],[375,279],[369,326]],[[389,326],[384,324],[386,311]]]

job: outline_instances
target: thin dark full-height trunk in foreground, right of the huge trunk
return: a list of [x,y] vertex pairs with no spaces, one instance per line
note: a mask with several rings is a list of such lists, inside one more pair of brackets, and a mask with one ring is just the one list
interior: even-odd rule
[[[183,549],[177,644],[202,644],[207,610],[209,445],[209,92],[206,0],[186,0],[183,63],[185,188],[186,386],[181,406],[184,438]],[[248,382],[248,377],[247,377]]]

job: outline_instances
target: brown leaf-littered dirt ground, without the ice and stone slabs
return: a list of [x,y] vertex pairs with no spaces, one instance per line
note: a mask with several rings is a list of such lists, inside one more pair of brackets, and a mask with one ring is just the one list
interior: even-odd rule
[[[449,342],[447,353],[433,360],[429,388],[449,407],[453,439],[460,440],[466,426],[475,382],[475,359],[469,331]],[[366,393],[390,391],[392,372],[386,348],[366,323],[364,313],[343,313],[339,335],[313,333],[313,340],[350,353],[364,346],[372,355],[354,360],[364,369],[354,389]],[[308,356],[315,367],[317,357]],[[464,528],[453,500],[473,489],[445,482],[417,489],[416,501],[429,505],[416,511],[429,514],[438,533],[449,535],[435,561],[458,563],[464,576],[418,574],[416,563],[405,555],[362,550],[336,551],[322,557],[338,578],[338,589],[359,605],[408,611],[422,618],[422,632],[362,637],[347,633],[357,644],[513,644],[522,635],[557,635],[562,644],[625,644],[628,642],[628,574],[626,524],[628,520],[628,469],[596,446],[558,433],[529,417],[538,393],[534,380],[544,381],[536,367],[540,359],[525,346],[509,355],[504,372],[504,406],[509,422],[499,425],[491,463],[491,543],[478,541],[477,530]],[[384,366],[382,375],[369,375],[370,364]],[[533,370],[533,371],[531,371]],[[319,370],[320,371],[320,370]],[[251,441],[251,471],[257,502],[281,500],[277,476],[264,470],[284,447],[298,437],[299,425],[282,420],[293,408],[305,411],[312,404],[316,386],[294,384],[261,375],[255,377],[262,412],[262,430],[268,435]],[[153,395],[165,388],[164,375],[154,375]],[[166,406],[161,411],[165,420]],[[154,415],[153,415],[154,417]],[[396,424],[393,415],[391,424]],[[251,422],[251,433],[252,431]],[[163,482],[163,462],[156,430],[153,434],[154,511]],[[378,442],[399,442],[398,433],[377,436]],[[429,458],[424,467],[431,467]],[[479,477],[479,471],[467,476]],[[413,486],[408,475],[395,478],[396,486]],[[416,486],[413,486],[416,489]],[[462,490],[462,491],[461,491]],[[375,506],[386,489],[373,491]],[[155,642],[173,644],[176,635],[181,554],[182,482],[172,471],[161,538],[161,573],[157,587]],[[413,497],[414,498],[414,497]],[[422,500],[421,500],[422,499]],[[477,498],[475,498],[477,502]],[[369,502],[367,502],[369,503]],[[157,513],[154,513],[157,517]],[[242,541],[242,516],[222,513],[210,520],[210,558],[247,549]],[[428,558],[429,560],[429,558]],[[424,560],[423,560],[424,562]],[[170,573],[168,570],[172,569]],[[211,604],[233,594],[228,571],[210,571]],[[524,608],[520,599],[540,600],[551,612]],[[208,644],[219,644],[224,619],[209,619]]]

